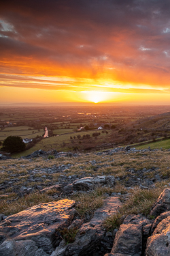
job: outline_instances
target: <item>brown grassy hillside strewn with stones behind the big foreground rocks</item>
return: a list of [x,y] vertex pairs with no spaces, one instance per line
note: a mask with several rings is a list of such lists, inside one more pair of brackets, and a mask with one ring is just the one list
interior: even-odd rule
[[[105,223],[107,229],[112,229],[124,214],[142,213],[148,216],[160,192],[169,187],[169,169],[169,150],[88,153],[51,160],[47,156],[31,160],[1,160],[0,212],[14,214],[38,203],[58,201],[67,197],[77,201],[77,210],[80,216],[84,217],[86,214],[92,214],[102,205],[105,197],[114,193],[120,197],[123,206],[116,220],[114,217]],[[75,193],[67,196],[58,196],[56,190],[39,193],[40,189],[53,184],[71,184],[73,180],[81,177],[97,175],[114,175],[116,186],[97,188],[87,194]],[[154,185],[148,189],[146,182],[152,182]],[[140,185],[146,189],[143,190]],[[31,193],[21,193],[23,187],[31,188]]]

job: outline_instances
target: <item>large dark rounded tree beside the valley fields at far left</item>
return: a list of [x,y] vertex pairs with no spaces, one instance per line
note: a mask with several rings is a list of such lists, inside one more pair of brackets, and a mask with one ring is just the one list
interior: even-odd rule
[[25,143],[21,137],[9,136],[3,141],[3,150],[10,153],[16,153],[25,149]]

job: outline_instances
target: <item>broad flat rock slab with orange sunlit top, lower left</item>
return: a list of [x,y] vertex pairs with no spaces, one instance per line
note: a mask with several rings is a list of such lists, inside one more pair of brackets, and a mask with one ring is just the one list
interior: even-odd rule
[[68,227],[75,216],[75,201],[63,199],[41,203],[1,221],[4,236],[13,240],[33,240],[46,253],[52,253],[57,244],[56,229]]

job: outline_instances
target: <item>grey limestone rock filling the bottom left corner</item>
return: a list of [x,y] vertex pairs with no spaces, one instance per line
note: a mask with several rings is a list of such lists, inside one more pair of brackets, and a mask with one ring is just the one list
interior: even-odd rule
[[31,240],[5,240],[0,246],[1,256],[50,256]]

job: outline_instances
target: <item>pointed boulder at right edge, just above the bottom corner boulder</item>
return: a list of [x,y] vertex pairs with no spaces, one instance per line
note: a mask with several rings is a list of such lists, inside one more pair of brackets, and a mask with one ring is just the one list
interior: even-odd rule
[[170,189],[166,188],[163,193],[160,194],[158,200],[154,204],[150,215],[159,216],[163,212],[170,210]]

